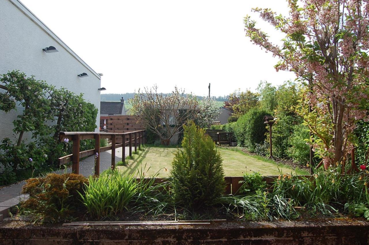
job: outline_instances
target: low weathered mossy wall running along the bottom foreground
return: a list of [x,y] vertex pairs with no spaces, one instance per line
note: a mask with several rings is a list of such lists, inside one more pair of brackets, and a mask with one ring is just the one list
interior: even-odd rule
[[175,226],[37,226],[0,223],[0,244],[368,244],[369,222],[241,222]]

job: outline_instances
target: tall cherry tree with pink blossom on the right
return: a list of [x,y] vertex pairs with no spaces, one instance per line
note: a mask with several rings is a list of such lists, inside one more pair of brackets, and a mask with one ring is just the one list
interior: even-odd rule
[[356,122],[369,120],[369,1],[301,0],[302,6],[297,2],[287,0],[287,17],[253,9],[286,35],[282,45],[270,42],[249,16],[245,32],[280,59],[277,71],[293,71],[303,82],[295,109],[314,133],[310,144],[327,167],[344,160],[353,148]]

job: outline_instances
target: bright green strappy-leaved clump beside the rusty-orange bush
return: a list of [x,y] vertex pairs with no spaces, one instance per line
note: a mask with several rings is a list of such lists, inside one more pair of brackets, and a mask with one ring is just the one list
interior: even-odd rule
[[89,176],[89,185],[84,188],[85,195],[80,193],[80,196],[90,216],[101,219],[128,211],[127,206],[137,190],[134,176],[107,169],[99,178]]

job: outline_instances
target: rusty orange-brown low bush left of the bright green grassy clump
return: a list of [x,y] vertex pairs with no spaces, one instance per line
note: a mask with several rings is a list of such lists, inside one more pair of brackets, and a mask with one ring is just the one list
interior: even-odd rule
[[48,174],[43,178],[26,180],[22,193],[29,193],[30,199],[21,206],[42,222],[61,222],[72,219],[80,206],[79,194],[88,185],[83,175]]

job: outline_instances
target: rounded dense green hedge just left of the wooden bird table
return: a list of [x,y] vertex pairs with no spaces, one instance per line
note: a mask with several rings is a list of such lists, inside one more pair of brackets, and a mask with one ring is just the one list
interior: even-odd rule
[[238,144],[255,151],[255,145],[264,141],[267,132],[263,121],[265,115],[268,115],[266,111],[253,108],[239,117],[233,127]]

